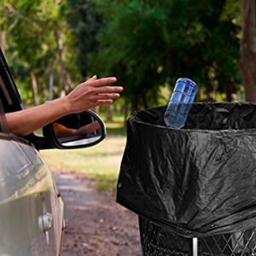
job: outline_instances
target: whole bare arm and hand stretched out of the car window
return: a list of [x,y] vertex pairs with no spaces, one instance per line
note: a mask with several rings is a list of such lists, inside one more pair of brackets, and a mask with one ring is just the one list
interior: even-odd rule
[[121,86],[108,85],[116,80],[114,77],[97,79],[94,76],[79,84],[67,96],[37,107],[6,113],[9,131],[23,136],[67,114],[80,113],[99,105],[111,104],[113,99],[119,98],[119,92],[123,90]]

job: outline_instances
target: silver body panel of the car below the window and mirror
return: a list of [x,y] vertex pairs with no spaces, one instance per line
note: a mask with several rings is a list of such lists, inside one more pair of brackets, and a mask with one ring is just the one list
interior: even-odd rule
[[[0,255],[59,255],[63,202],[49,168],[19,138],[0,135],[0,157]],[[42,230],[46,212],[52,226]]]

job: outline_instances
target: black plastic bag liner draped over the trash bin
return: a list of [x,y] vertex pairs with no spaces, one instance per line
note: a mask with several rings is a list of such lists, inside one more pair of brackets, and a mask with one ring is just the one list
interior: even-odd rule
[[117,202],[185,237],[256,227],[256,104],[194,103],[181,130],[165,111],[127,120]]

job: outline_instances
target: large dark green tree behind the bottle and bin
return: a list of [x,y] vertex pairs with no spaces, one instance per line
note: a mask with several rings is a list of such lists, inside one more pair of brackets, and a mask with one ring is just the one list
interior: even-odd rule
[[[194,79],[207,95],[237,90],[235,0],[95,0],[102,15],[90,67],[116,74],[132,109],[158,104],[160,86]],[[201,98],[203,100],[203,98]]]

